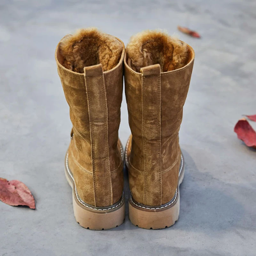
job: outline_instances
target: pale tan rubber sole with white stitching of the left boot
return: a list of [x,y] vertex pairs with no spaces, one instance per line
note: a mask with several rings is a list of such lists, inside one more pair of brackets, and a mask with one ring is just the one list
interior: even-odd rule
[[83,228],[104,230],[120,226],[125,219],[124,194],[114,205],[95,207],[81,200],[76,191],[73,175],[68,167],[68,153],[65,157],[65,176],[72,188],[73,209],[76,222]]

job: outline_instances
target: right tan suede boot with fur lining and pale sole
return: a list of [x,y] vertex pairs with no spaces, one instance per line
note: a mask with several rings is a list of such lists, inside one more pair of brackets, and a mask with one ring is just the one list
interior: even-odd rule
[[194,63],[193,49],[162,32],[131,38],[124,56],[132,131],[126,149],[129,218],[141,228],[172,226],[179,217],[184,159],[179,129]]

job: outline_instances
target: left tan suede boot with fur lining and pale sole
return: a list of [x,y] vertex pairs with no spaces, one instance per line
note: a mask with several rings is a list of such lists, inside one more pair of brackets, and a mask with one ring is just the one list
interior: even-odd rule
[[73,124],[65,173],[76,221],[109,229],[124,221],[123,158],[118,140],[124,44],[95,28],[65,36],[55,52]]

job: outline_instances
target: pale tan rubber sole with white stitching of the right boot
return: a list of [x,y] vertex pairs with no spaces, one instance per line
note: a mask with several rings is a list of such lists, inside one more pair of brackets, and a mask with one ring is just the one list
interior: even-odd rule
[[[127,167],[127,164],[126,164]],[[180,213],[180,184],[184,178],[184,160],[181,155],[179,182],[172,200],[164,205],[147,206],[137,203],[130,193],[129,219],[132,224],[146,229],[168,228],[175,224]]]

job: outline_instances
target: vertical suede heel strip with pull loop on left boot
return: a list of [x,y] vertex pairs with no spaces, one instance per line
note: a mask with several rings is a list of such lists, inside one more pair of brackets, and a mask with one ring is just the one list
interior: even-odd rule
[[108,149],[108,107],[102,65],[84,67],[84,79],[90,121],[95,205],[112,205]]

